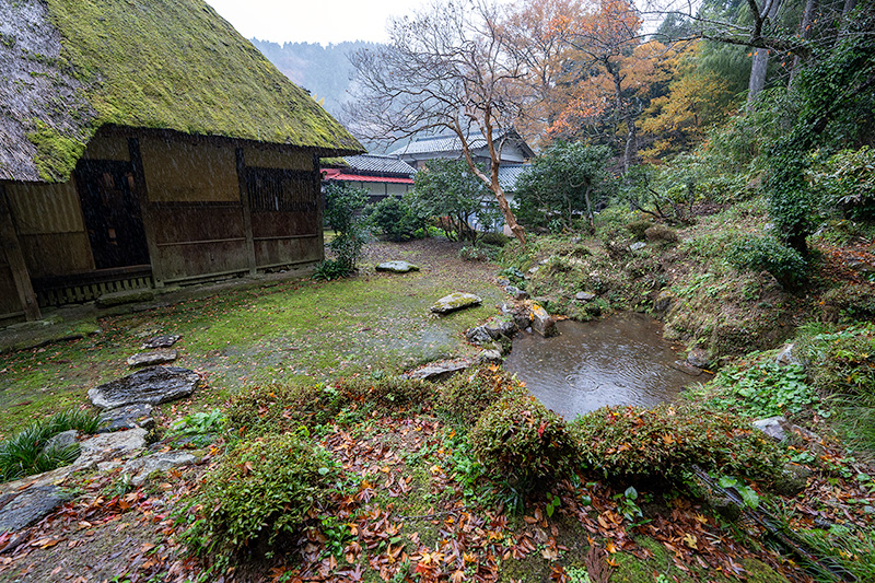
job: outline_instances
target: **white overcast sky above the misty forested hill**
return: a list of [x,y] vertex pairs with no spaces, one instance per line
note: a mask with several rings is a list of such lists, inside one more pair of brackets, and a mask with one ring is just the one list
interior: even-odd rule
[[424,0],[207,0],[246,38],[275,43],[384,42],[389,16]]

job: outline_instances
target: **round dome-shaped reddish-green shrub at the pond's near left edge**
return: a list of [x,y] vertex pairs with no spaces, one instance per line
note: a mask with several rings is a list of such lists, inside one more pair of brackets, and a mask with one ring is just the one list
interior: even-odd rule
[[483,411],[468,438],[487,471],[521,490],[562,479],[575,455],[565,421],[522,393],[506,395]]

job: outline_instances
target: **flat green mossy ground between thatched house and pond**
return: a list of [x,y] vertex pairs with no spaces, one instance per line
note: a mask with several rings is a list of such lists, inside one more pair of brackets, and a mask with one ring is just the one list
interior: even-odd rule
[[[377,244],[355,278],[226,291],[102,318],[101,335],[0,354],[0,434],[34,416],[84,405],[89,388],[127,374],[125,360],[158,334],[182,336],[175,364],[203,374],[207,388],[195,405],[201,408],[250,384],[398,374],[433,360],[475,354],[464,333],[494,315],[503,295],[491,281],[494,266],[462,261],[455,252],[456,245],[444,241]],[[422,269],[373,271],[375,261],[393,256]],[[455,291],[476,293],[483,303],[447,316],[429,311]]]

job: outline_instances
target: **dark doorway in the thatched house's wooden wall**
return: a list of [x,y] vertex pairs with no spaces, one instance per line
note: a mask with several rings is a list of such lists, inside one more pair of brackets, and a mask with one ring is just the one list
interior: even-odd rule
[[90,160],[75,170],[82,213],[97,269],[149,264],[130,162]]

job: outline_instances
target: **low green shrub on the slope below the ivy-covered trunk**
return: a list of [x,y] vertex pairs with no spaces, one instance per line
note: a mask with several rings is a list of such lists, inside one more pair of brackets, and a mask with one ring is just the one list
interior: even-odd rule
[[798,285],[806,278],[802,255],[770,236],[739,238],[730,246],[726,258],[738,270],[766,270],[788,288]]

